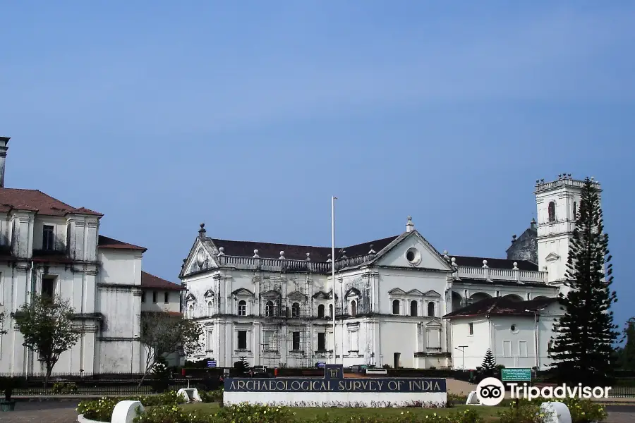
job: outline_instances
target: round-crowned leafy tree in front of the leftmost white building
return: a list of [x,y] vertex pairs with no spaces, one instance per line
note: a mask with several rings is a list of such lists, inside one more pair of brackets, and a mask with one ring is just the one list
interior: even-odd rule
[[73,347],[81,336],[82,331],[73,326],[74,313],[68,300],[36,294],[13,315],[25,347],[46,364],[44,388],[61,353]]

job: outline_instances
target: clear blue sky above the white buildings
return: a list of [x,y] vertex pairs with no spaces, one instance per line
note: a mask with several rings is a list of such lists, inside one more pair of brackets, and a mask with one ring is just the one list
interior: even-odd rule
[[6,185],[105,214],[177,281],[217,238],[401,233],[504,257],[538,178],[595,176],[631,316],[629,1],[0,1]]

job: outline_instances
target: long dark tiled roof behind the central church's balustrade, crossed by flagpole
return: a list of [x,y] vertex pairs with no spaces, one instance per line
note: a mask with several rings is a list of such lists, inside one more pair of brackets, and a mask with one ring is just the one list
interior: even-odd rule
[[[392,240],[395,238],[397,238],[397,235],[389,238],[383,238],[381,240],[369,241],[368,243],[351,245],[349,247],[336,247],[335,255],[339,259],[342,255],[342,250],[346,252],[346,257],[366,255],[370,252],[370,245],[373,245],[373,250],[375,250],[375,252],[379,252],[389,243],[392,243]],[[263,259],[277,259],[280,257],[280,252],[284,251],[284,257],[286,259],[306,260],[306,253],[310,253],[309,257],[312,262],[326,262],[328,255],[332,252],[331,247],[259,243],[255,241],[232,241],[220,240],[217,238],[208,239],[211,240],[217,247],[223,247],[225,255],[234,255],[239,257],[253,257],[253,250],[258,250],[258,256]]]

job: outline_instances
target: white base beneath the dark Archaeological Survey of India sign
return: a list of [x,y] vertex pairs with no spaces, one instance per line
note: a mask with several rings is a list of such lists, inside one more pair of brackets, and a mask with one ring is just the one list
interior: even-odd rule
[[250,403],[289,407],[442,407],[447,393],[433,392],[227,392],[224,405]]

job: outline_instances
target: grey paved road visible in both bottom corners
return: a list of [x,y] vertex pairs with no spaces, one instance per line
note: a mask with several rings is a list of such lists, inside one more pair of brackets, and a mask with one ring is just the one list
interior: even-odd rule
[[[14,412],[0,412],[1,423],[73,423],[77,421],[77,401],[19,402]],[[635,422],[635,407],[631,405],[607,406],[609,417],[605,423]]]

